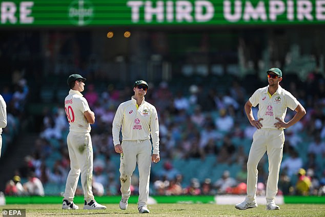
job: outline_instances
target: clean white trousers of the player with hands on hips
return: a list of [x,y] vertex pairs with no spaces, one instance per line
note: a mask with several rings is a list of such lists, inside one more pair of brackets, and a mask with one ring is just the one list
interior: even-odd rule
[[278,192],[279,171],[284,143],[285,133],[283,130],[261,128],[255,131],[247,161],[246,201],[256,201],[257,165],[265,152],[267,152],[269,159],[269,176],[266,191],[267,205],[275,201],[275,196]]

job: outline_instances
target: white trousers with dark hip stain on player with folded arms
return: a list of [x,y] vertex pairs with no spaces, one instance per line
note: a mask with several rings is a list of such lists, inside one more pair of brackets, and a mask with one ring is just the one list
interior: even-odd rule
[[69,132],[67,144],[70,157],[70,171],[67,177],[64,200],[73,201],[81,172],[85,201],[94,199],[92,192],[93,149],[90,133]]

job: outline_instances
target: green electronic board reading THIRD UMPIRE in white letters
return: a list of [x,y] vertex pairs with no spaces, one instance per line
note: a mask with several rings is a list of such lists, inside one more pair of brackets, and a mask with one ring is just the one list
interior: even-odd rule
[[0,28],[325,23],[325,0],[7,0],[0,6]]

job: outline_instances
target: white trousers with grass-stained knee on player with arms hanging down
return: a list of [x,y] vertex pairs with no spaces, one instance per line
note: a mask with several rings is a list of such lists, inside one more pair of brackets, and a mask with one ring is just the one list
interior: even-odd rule
[[131,176],[138,164],[139,170],[139,200],[138,207],[147,206],[149,198],[149,176],[151,168],[151,142],[150,140],[123,141],[123,153],[120,156],[120,182],[123,199],[131,195]]

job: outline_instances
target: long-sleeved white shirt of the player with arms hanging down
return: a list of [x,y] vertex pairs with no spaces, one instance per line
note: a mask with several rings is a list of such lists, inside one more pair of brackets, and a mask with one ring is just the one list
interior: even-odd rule
[[113,120],[113,143],[120,144],[119,131],[122,127],[123,141],[147,140],[152,137],[153,153],[159,153],[159,124],[156,108],[145,100],[138,107],[136,100],[121,103]]

